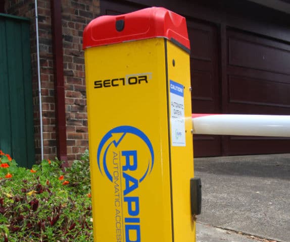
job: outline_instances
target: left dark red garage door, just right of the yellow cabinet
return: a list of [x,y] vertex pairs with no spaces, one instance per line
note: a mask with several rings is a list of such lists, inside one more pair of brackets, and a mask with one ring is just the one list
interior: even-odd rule
[[[218,86],[218,38],[217,27],[187,19],[191,46],[190,73],[192,86],[192,112],[220,112]],[[219,136],[194,136],[194,155],[220,156]]]

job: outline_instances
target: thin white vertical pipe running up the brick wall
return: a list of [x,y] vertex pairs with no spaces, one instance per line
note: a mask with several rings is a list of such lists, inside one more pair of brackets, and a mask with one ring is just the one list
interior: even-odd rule
[[36,52],[37,52],[37,76],[38,76],[38,98],[39,98],[39,118],[40,118],[40,146],[41,160],[43,160],[43,129],[42,129],[42,100],[41,100],[41,82],[40,82],[40,61],[39,61],[39,34],[38,34],[38,11],[37,0],[35,2],[35,29],[36,29]]

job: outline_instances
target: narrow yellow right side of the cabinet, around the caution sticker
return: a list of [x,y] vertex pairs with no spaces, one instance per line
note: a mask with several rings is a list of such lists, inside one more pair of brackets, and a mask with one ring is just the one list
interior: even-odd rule
[[[171,135],[171,173],[172,173],[172,205],[174,221],[174,241],[195,241],[195,222],[191,219],[189,180],[194,177],[194,154],[192,145],[191,93],[189,54],[170,41],[167,41],[168,79],[183,86],[184,94],[184,126],[186,146],[172,143],[176,138],[176,130],[172,129],[174,112],[182,109],[174,105],[169,95],[170,135]],[[170,90],[170,86],[169,86]],[[170,91],[169,91],[170,92]],[[175,137],[174,137],[175,136]]]

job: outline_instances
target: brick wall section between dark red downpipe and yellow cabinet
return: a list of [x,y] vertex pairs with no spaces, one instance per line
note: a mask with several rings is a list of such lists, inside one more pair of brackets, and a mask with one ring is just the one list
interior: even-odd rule
[[96,0],[62,1],[67,153],[73,160],[88,148],[82,33],[100,14]]

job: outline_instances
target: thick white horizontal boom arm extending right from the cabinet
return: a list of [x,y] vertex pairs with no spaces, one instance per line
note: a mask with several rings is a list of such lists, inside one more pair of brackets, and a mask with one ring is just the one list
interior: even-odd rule
[[192,114],[194,134],[290,137],[290,115]]

